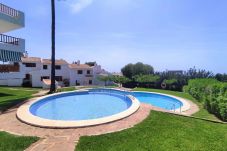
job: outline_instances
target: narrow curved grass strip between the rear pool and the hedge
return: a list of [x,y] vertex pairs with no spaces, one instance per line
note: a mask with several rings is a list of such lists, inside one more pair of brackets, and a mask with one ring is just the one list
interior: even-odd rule
[[148,89],[148,88],[135,88],[134,91],[149,91],[149,92],[166,93],[166,94],[175,95],[175,96],[179,96],[179,97],[191,100],[192,102],[197,104],[200,109],[197,113],[193,114],[193,116],[220,121],[215,115],[210,114],[206,109],[204,109],[203,104],[201,102],[197,101],[196,99],[194,99],[190,94],[187,94],[184,92],[160,90],[160,89]]

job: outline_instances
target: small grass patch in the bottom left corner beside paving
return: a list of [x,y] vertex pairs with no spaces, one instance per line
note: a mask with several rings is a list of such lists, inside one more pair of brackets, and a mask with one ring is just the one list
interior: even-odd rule
[[23,151],[37,140],[37,137],[15,136],[6,132],[0,132],[0,150]]

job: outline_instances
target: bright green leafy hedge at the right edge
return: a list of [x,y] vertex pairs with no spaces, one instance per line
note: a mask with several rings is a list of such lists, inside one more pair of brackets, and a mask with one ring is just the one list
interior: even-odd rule
[[203,102],[210,113],[227,121],[227,83],[215,79],[193,79],[184,91]]

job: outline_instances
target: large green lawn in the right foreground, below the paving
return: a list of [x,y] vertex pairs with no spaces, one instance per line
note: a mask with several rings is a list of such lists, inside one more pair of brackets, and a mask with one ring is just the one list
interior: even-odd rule
[[81,137],[77,151],[226,151],[227,125],[151,111],[133,128]]

